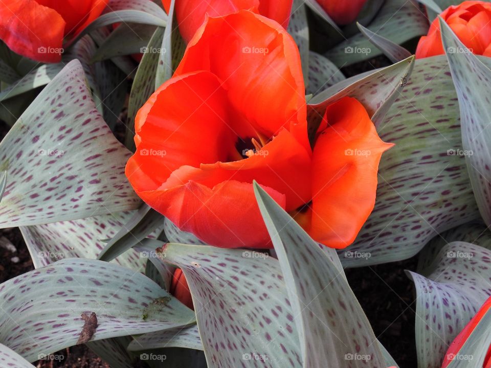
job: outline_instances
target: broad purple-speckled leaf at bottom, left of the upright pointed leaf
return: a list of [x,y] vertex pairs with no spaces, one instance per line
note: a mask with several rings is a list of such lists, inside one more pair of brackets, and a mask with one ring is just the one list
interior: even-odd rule
[[166,262],[184,271],[209,368],[302,366],[276,259],[206,245],[169,243],[162,251]]

